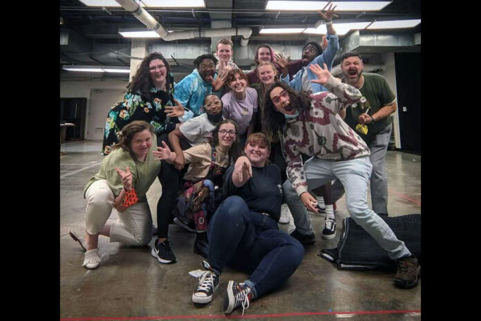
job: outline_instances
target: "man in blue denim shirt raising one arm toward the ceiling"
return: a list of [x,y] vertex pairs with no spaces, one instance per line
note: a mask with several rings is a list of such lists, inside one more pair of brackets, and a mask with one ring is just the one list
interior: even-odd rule
[[304,48],[302,49],[301,59],[298,63],[301,70],[294,75],[294,79],[291,80],[290,76],[287,77],[290,69],[288,60],[284,59],[282,56],[278,56],[280,59],[277,59],[277,64],[279,64],[279,66],[282,68],[281,80],[284,82],[287,81],[289,86],[291,86],[297,92],[306,91],[309,93],[317,93],[319,91],[327,91],[326,87],[322,86],[321,84],[311,82],[311,80],[315,80],[317,77],[314,75],[314,73],[312,73],[312,71],[310,71],[309,66],[311,64],[319,64],[321,66],[326,64],[329,68],[329,71],[332,68],[334,57],[336,57],[336,54],[339,51],[339,37],[336,35],[334,26],[332,26],[332,18],[337,17],[337,15],[334,15],[335,8],[336,6],[332,8],[331,4],[326,13],[318,11],[319,15],[321,15],[321,18],[326,22],[326,28],[328,30],[326,39],[328,41],[328,47],[325,51],[323,51],[317,42],[308,42],[305,44]]

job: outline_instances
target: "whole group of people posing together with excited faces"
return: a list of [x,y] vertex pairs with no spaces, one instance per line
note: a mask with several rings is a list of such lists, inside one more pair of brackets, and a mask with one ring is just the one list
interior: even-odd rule
[[[225,313],[247,309],[282,286],[301,264],[303,246],[314,244],[308,210],[325,212],[321,236],[334,238],[333,204],[343,192],[352,219],[396,260],[395,284],[417,285],[417,259],[378,215],[388,214],[384,156],[395,95],[382,76],[363,72],[356,52],[341,57],[342,80],[331,75],[339,51],[334,8],[319,12],[328,27],[321,44],[306,44],[295,62],[262,44],[256,68],[243,71],[232,62],[232,42],[222,39],[219,61],[200,55],[194,71],[174,83],[160,53],[143,59],[124,100],[109,111],[106,158],[84,189],[83,266],[99,266],[99,235],[149,244],[153,222],[145,193],[158,177],[151,255],[162,264],[176,262],[170,223],[196,232],[194,253],[205,260],[195,303],[211,302],[226,265],[249,277],[229,281]],[[119,219],[106,223],[113,208]],[[287,234],[278,222],[288,223],[290,214],[295,229]]]

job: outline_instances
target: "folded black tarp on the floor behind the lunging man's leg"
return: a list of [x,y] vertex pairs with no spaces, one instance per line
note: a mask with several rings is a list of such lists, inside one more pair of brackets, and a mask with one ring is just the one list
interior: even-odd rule
[[[379,216],[406,244],[421,264],[421,214],[399,217]],[[350,217],[343,219],[343,230],[337,248],[324,249],[320,257],[336,263],[340,270],[384,270],[394,272],[397,266],[368,233]]]

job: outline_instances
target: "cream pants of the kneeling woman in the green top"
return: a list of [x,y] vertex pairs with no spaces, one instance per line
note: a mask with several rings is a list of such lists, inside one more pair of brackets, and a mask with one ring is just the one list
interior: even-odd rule
[[[88,201],[86,208],[86,230],[94,235],[100,232],[114,208],[114,196],[106,180],[95,181],[85,192]],[[133,246],[144,246],[152,239],[152,215],[147,197],[119,212],[119,219],[112,223],[111,242],[122,242]]]

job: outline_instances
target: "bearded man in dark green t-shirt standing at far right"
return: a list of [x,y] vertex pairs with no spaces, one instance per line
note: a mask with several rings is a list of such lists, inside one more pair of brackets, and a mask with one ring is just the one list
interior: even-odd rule
[[[359,102],[346,109],[344,121],[354,130],[359,124],[367,126],[367,134],[359,131],[358,134],[370,149],[372,210],[387,215],[388,177],[384,169],[384,159],[393,127],[390,114],[397,109],[396,96],[389,89],[384,77],[375,73],[363,73],[363,68],[359,53],[351,51],[342,56],[343,82],[355,86],[362,94]],[[341,182],[335,181],[332,185],[332,200],[335,202],[340,199],[343,192]]]

